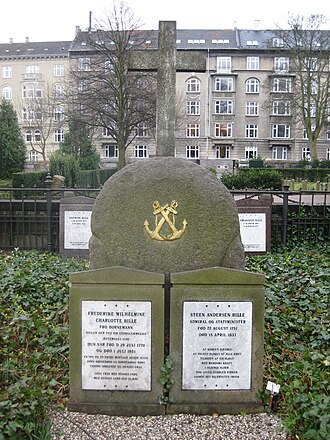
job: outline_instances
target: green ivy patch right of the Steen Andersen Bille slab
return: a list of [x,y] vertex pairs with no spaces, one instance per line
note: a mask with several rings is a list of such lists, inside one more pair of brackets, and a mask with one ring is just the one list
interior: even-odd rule
[[297,439],[330,438],[329,263],[329,243],[247,260],[266,274],[264,380],[281,385],[275,409]]

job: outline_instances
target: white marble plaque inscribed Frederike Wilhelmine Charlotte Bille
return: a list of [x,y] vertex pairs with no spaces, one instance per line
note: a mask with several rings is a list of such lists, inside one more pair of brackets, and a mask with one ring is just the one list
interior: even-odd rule
[[151,302],[82,301],[82,388],[151,390]]

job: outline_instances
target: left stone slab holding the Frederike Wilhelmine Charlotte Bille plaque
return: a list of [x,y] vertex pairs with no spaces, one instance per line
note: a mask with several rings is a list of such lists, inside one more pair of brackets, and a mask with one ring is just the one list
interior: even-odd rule
[[68,409],[161,415],[164,275],[112,267],[70,276]]

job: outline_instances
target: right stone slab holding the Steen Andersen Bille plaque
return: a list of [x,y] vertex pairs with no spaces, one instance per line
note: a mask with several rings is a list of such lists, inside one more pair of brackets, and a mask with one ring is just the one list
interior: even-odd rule
[[172,274],[171,283],[168,413],[263,411],[256,392],[263,387],[264,276],[215,267]]

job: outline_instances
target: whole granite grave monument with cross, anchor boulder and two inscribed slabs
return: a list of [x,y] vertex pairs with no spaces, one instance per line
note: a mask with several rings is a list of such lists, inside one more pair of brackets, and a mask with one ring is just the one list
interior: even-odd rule
[[[157,64],[157,100],[166,103],[165,86],[175,88],[178,66],[175,25],[164,23],[160,31],[158,56],[166,62]],[[71,410],[147,415],[263,408],[255,397],[262,388],[263,276],[244,272],[228,190],[197,164],[169,157],[172,105],[173,99],[164,104],[162,116],[157,106],[160,157],[117,172],[93,206],[91,270],[71,275]],[[226,319],[233,322],[215,322]],[[174,362],[166,372],[175,384],[169,394],[160,387],[167,356]],[[139,365],[146,370],[140,375]]]

